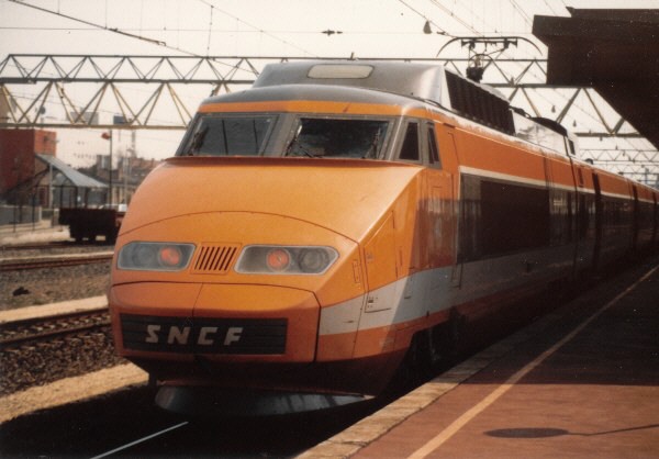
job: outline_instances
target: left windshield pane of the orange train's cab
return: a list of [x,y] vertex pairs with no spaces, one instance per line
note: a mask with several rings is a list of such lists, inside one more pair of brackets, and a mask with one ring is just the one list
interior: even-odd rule
[[275,116],[216,116],[197,120],[182,149],[187,156],[258,156]]

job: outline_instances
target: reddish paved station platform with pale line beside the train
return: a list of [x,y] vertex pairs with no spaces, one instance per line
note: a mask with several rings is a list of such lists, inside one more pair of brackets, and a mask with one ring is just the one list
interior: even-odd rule
[[659,258],[301,457],[659,458]]

